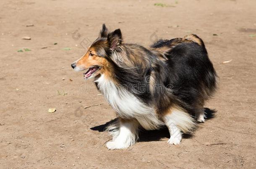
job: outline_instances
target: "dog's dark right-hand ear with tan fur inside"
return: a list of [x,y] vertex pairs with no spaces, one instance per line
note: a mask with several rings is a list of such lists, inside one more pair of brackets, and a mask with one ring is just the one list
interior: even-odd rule
[[120,29],[116,29],[114,32],[111,32],[107,35],[107,41],[110,45],[110,50],[115,50],[115,48],[122,44],[122,33]]

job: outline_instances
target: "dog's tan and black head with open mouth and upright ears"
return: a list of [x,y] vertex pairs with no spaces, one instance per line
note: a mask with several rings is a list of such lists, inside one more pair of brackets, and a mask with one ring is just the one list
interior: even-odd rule
[[86,54],[71,64],[75,71],[86,71],[84,79],[95,77],[99,74],[108,73],[111,69],[110,55],[122,43],[121,30],[108,32],[105,24],[99,37],[91,44]]

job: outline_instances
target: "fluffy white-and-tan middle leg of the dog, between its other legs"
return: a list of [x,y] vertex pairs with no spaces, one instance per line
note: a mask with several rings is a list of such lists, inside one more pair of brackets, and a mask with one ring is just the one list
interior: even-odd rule
[[195,123],[193,118],[181,108],[170,108],[163,117],[170,132],[169,144],[180,144],[182,133],[191,133]]

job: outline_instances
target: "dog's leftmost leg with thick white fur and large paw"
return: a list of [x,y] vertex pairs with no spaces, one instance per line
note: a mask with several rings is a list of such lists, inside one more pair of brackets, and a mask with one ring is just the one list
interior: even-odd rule
[[107,142],[108,149],[125,149],[133,145],[138,136],[138,121],[136,119],[118,119],[119,128],[113,132],[113,139]]

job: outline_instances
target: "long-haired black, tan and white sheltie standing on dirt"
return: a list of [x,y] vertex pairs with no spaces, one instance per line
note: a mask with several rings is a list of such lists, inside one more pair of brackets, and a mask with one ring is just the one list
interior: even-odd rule
[[138,139],[138,129],[167,126],[169,144],[205,121],[204,103],[216,89],[216,72],[204,42],[197,35],[158,40],[150,48],[123,42],[120,29],[102,25],[87,53],[71,64],[86,71],[118,121],[108,126],[108,149],[124,149]]

